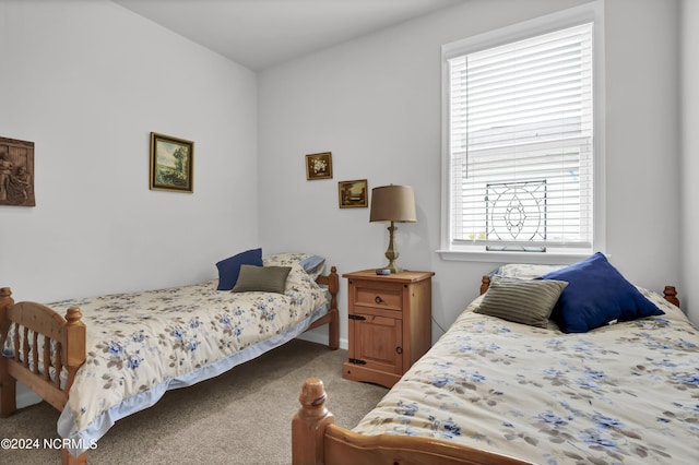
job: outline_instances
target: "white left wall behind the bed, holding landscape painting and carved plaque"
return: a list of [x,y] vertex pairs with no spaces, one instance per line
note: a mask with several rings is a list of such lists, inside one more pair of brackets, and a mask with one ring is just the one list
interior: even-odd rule
[[[36,207],[0,206],[16,299],[200,282],[258,245],[257,76],[105,0],[0,2],[0,135]],[[194,141],[194,193],[149,190],[150,132]]]

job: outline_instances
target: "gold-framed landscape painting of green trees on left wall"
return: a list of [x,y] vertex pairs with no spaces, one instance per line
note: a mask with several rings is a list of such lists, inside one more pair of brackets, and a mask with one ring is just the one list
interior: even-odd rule
[[194,192],[194,143],[151,132],[151,189]]

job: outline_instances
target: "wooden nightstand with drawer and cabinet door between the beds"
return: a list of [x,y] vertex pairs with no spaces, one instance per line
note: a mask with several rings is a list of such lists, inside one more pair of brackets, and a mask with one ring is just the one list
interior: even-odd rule
[[347,278],[350,360],[343,378],[391,388],[431,346],[433,272]]

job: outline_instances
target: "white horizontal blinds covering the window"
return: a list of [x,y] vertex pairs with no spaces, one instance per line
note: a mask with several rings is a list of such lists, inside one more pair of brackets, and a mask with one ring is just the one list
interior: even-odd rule
[[452,245],[591,247],[592,28],[448,59]]

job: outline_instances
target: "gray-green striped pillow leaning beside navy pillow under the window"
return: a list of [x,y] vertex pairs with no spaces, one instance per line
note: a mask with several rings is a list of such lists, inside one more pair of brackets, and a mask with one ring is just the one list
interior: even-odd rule
[[566,286],[568,283],[565,281],[493,276],[481,306],[474,312],[546,327],[548,317]]

